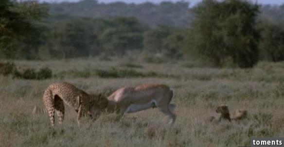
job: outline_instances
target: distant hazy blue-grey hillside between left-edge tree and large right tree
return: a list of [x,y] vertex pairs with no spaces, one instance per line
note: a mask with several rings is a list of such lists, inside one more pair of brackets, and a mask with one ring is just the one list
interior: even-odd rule
[[142,4],[127,4],[113,2],[98,3],[97,0],[81,0],[79,2],[51,3],[50,14],[64,14],[90,18],[106,18],[115,16],[135,16],[142,23],[150,26],[159,24],[169,26],[186,26],[188,23],[189,3],[165,1],[160,4],[145,2]]

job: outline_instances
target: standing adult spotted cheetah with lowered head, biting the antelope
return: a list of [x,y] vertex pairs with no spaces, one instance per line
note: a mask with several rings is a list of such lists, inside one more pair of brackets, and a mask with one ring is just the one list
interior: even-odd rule
[[101,107],[98,102],[102,98],[101,94],[89,95],[85,91],[75,87],[68,82],[53,83],[47,87],[43,95],[43,103],[50,117],[51,125],[54,126],[54,111],[56,110],[59,124],[64,119],[64,103],[71,106],[77,112],[77,122],[80,126],[82,116],[94,116],[97,107]]

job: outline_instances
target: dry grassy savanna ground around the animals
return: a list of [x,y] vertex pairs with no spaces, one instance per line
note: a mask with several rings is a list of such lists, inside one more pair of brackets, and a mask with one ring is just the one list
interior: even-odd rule
[[[123,60],[14,61],[21,68],[50,67],[53,79],[36,81],[0,77],[0,147],[237,147],[250,137],[284,137],[284,63],[259,63],[252,69],[217,69],[193,63],[149,64]],[[131,63],[131,64],[129,64]],[[135,70],[144,76],[100,78],[96,70]],[[155,72],[155,74],[148,74]],[[121,73],[122,77],[124,72]],[[142,75],[143,75],[142,74]],[[130,73],[131,75],[131,73]],[[123,86],[160,82],[175,89],[177,121],[156,109],[127,114],[102,114],[79,128],[76,113],[66,106],[63,125],[50,128],[47,114],[31,114],[43,107],[45,88],[71,82],[87,92],[106,94]],[[216,106],[247,109],[238,122],[210,122]]]

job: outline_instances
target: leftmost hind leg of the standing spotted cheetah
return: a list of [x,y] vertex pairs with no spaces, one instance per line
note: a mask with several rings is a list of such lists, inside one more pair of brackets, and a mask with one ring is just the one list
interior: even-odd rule
[[48,112],[51,125],[54,126],[54,99],[51,91],[46,90],[43,95],[43,103]]

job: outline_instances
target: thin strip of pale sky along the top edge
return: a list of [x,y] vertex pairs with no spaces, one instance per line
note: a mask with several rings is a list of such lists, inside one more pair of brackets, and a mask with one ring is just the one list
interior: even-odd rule
[[[71,2],[74,2],[74,1],[80,1],[80,0],[39,0],[39,1],[46,1],[46,2],[62,2],[62,1],[71,1]],[[153,2],[153,3],[159,3],[161,1],[173,1],[173,2],[176,2],[176,1],[180,1],[180,0],[98,0],[99,2],[105,2],[105,3],[109,3],[109,2],[115,2],[115,1],[123,1],[123,2],[126,2],[126,3],[142,3],[142,2]],[[183,1],[189,1],[192,5],[200,2],[201,0],[183,0]],[[272,4],[272,5],[275,5],[275,4],[283,4],[284,3],[284,0],[251,0],[251,1],[257,1],[258,3],[260,4]]]

